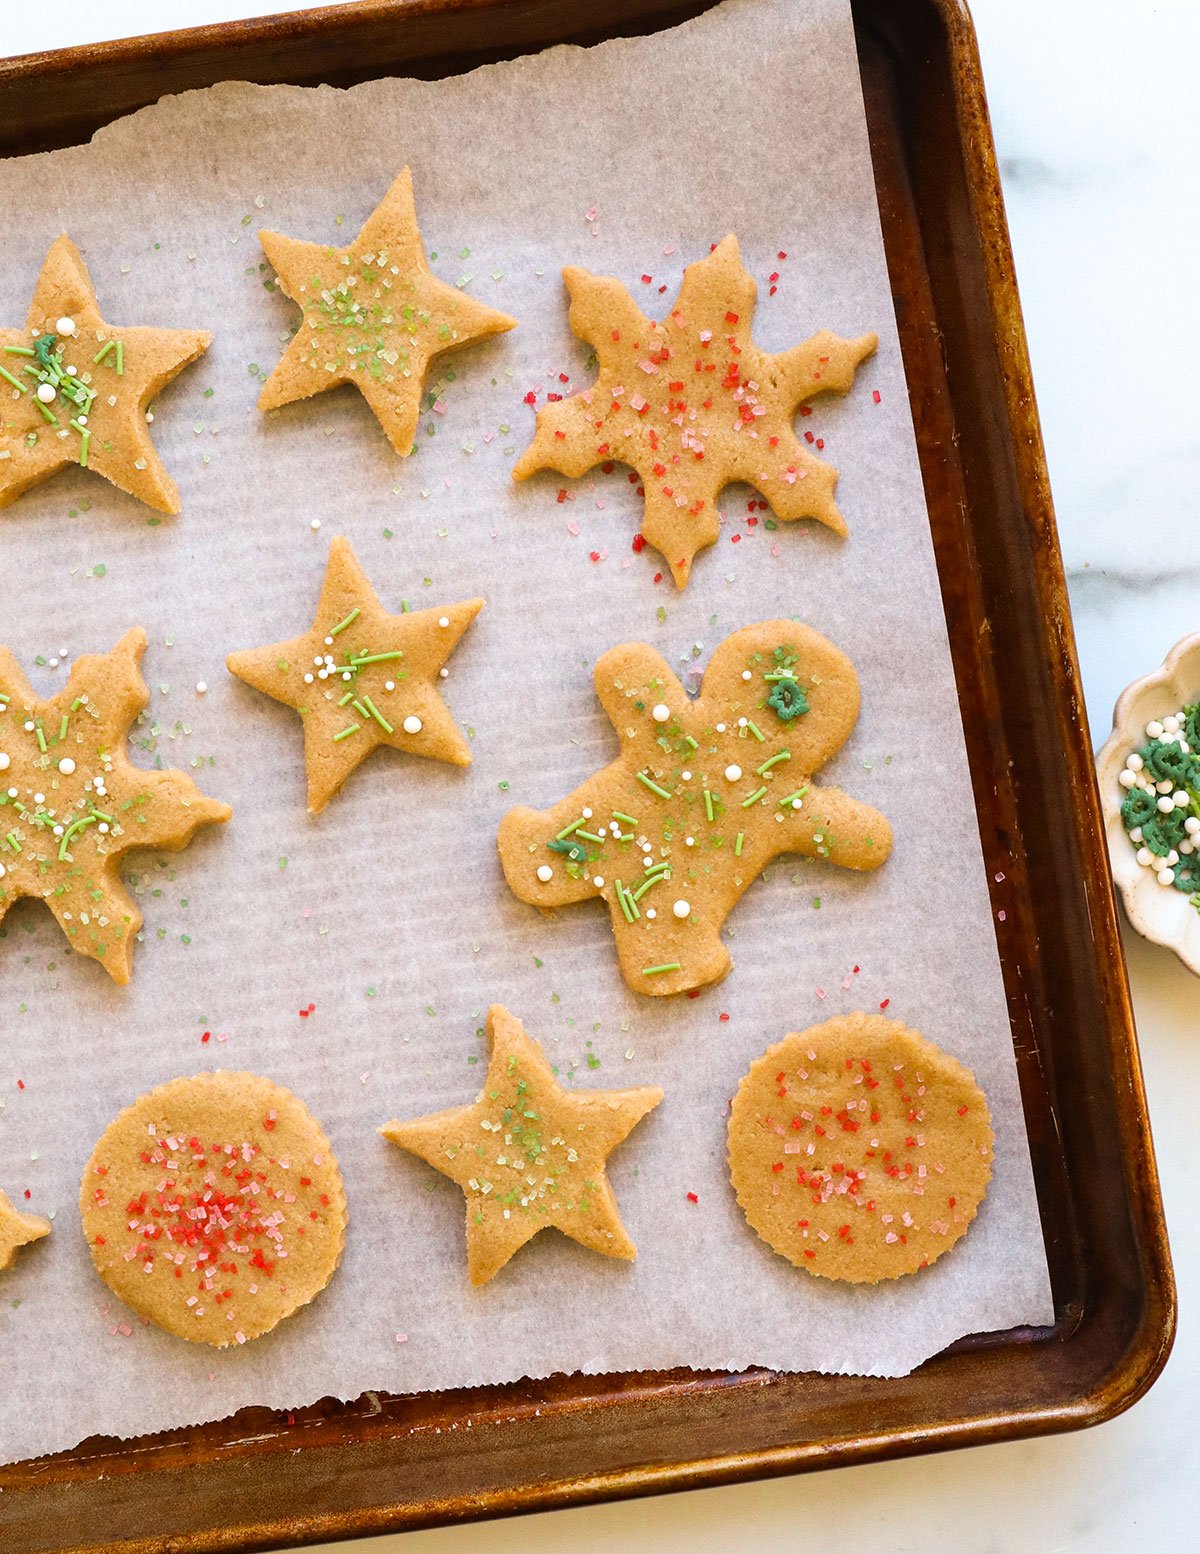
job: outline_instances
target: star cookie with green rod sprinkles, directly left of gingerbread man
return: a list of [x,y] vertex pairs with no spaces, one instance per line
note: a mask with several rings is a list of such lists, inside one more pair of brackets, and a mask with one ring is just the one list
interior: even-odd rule
[[294,707],[305,724],[308,810],[317,814],[378,744],[469,766],[471,749],[437,682],[482,598],[390,615],[348,539],[330,545],[312,626],[230,653],[228,670]]

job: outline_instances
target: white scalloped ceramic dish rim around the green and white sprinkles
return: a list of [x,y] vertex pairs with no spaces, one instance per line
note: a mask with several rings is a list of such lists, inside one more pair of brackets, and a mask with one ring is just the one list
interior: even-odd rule
[[1174,949],[1189,971],[1200,976],[1200,912],[1181,890],[1164,889],[1133,855],[1121,822],[1124,788],[1118,772],[1132,749],[1146,741],[1146,724],[1175,712],[1200,695],[1200,632],[1177,642],[1161,668],[1124,690],[1113,709],[1113,732],[1096,757],[1104,830],[1113,880],[1121,890],[1133,928],[1155,945]]

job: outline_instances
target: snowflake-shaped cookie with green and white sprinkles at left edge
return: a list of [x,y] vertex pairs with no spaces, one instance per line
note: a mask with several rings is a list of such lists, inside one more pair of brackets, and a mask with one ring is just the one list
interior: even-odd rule
[[50,908],[72,949],[127,982],[141,912],[121,883],[134,847],[179,852],[202,825],[227,821],[180,771],[146,771],[126,752],[149,701],[146,632],[76,659],[42,701],[0,648],[0,918],[16,900]]

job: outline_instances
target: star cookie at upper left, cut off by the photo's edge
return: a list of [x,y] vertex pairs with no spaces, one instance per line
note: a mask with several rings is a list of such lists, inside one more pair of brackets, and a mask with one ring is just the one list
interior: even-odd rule
[[205,329],[106,323],[79,250],[56,238],[25,328],[0,329],[0,507],[82,465],[159,513],[177,513],[179,488],[146,410],[211,339]]

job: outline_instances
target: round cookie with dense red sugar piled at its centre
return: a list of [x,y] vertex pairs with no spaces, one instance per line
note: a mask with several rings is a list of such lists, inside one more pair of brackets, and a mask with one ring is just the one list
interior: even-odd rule
[[224,1347],[306,1305],[342,1257],[347,1201],[303,1102],[218,1069],[140,1096],[79,1189],[99,1277],[180,1338]]

